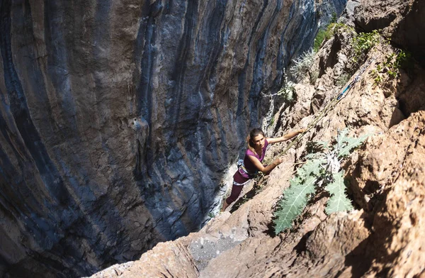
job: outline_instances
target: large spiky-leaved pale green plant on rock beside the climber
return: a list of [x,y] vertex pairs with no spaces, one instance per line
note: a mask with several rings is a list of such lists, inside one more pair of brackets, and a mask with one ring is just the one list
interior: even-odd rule
[[341,160],[361,145],[368,135],[348,138],[346,134],[347,130],[342,130],[337,135],[336,143],[331,146],[326,142],[314,143],[314,148],[319,151],[306,156],[307,162],[297,169],[295,177],[290,180],[290,187],[283,192],[283,199],[275,212],[276,234],[292,226],[294,219],[307,206],[310,197],[322,187],[331,195],[326,213],[353,209],[345,193]]

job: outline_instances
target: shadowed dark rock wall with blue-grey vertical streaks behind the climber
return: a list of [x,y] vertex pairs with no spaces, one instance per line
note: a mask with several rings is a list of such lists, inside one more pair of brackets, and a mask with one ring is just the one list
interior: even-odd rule
[[344,4],[0,1],[0,276],[91,274],[198,230],[259,94]]

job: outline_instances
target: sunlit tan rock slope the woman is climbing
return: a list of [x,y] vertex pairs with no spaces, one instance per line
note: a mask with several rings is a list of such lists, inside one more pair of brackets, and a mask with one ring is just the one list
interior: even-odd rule
[[[370,11],[368,6],[361,9]],[[402,18],[399,24],[409,21]],[[322,45],[306,73],[316,72],[319,78],[314,84],[295,85],[297,102],[280,106],[268,132],[280,135],[307,126],[354,77],[358,82],[296,150],[285,153],[285,162],[254,187],[244,188],[248,200],[237,201],[244,204],[213,218],[198,233],[157,245],[126,269],[115,265],[94,277],[424,277],[425,72],[413,61],[412,67],[399,68],[396,77],[375,82],[375,69],[397,50],[378,43],[364,53],[362,65],[352,60],[353,51],[350,28],[336,31]],[[344,77],[347,72],[349,79]],[[310,82],[307,76],[305,80]],[[310,200],[292,229],[273,236],[272,212],[289,186],[294,164],[307,154],[307,142],[329,142],[343,128],[352,135],[370,134],[342,165],[356,209],[327,216],[329,195],[322,192]],[[282,149],[273,145],[268,158]],[[175,267],[176,262],[184,267]]]

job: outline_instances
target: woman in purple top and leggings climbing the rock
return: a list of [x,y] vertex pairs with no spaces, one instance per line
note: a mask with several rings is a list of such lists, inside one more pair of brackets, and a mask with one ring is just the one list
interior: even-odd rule
[[264,174],[268,174],[276,166],[282,163],[283,158],[278,157],[268,166],[263,166],[263,164],[261,164],[261,161],[263,161],[264,156],[266,155],[266,148],[268,144],[289,140],[290,138],[294,138],[296,135],[303,133],[304,131],[305,129],[300,129],[283,135],[279,138],[266,138],[263,130],[260,128],[254,128],[251,130],[248,137],[246,138],[246,142],[248,143],[248,150],[246,150],[244,161],[241,165],[239,165],[237,172],[233,175],[232,193],[230,194],[229,198],[225,199],[225,202],[222,206],[222,211],[225,211],[227,206],[236,201],[237,197],[242,191],[242,188],[244,187],[244,184],[249,182],[249,180],[255,176],[256,172],[261,171]]

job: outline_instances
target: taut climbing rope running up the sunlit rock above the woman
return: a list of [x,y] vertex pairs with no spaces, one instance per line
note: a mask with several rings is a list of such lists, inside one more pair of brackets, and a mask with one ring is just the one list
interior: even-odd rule
[[350,82],[347,85],[347,87],[345,87],[345,89],[341,91],[341,93],[339,93],[333,99],[331,99],[331,101],[329,102],[329,104],[327,104],[327,106],[307,125],[307,128],[305,128],[305,131],[303,133],[298,134],[297,135],[297,138],[295,138],[295,140],[293,140],[285,149],[283,149],[283,151],[280,152],[280,154],[278,155],[278,157],[281,157],[281,156],[285,155],[285,153],[288,152],[288,150],[290,148],[292,148],[293,145],[295,145],[296,143],[300,142],[301,138],[305,135],[305,133],[307,133],[310,129],[312,129],[314,126],[316,126],[317,123],[319,123],[319,121],[322,120],[322,118],[324,118],[324,116],[329,111],[331,111],[332,109],[334,109],[334,107],[336,106],[336,104],[338,104],[339,101],[341,101],[341,99],[344,96],[344,94],[346,94],[346,92],[349,89],[351,89],[354,86],[354,84],[356,84],[356,82],[358,82],[358,80],[360,80],[361,75],[370,66],[370,64],[372,64],[372,62],[374,60],[375,60],[375,58],[373,57],[368,62],[365,62],[365,64],[363,65],[363,67],[361,67],[361,69],[358,72],[358,74],[356,75],[356,77],[354,77],[353,81]]

